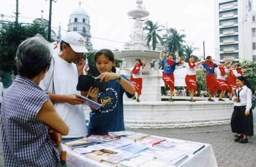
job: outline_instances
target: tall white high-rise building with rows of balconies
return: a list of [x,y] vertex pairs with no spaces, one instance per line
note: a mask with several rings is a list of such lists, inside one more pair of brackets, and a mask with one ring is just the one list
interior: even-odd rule
[[215,61],[255,61],[255,28],[252,0],[215,0]]

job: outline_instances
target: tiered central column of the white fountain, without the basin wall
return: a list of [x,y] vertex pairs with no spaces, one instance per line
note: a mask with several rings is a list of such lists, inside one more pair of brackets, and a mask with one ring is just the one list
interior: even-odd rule
[[[122,66],[126,68],[134,67],[135,60],[139,58],[141,61],[146,60],[146,66],[143,70],[143,89],[140,100],[142,101],[161,101],[160,72],[157,68],[151,70],[150,62],[159,60],[158,51],[150,51],[146,46],[147,34],[143,31],[143,21],[141,18],[148,17],[149,12],[141,6],[143,1],[136,1],[137,7],[129,11],[127,14],[135,19],[134,27],[130,33],[131,41],[130,50],[115,52],[115,58],[123,60]],[[130,71],[121,70],[120,73],[130,78]],[[128,100],[128,99],[126,99]]]

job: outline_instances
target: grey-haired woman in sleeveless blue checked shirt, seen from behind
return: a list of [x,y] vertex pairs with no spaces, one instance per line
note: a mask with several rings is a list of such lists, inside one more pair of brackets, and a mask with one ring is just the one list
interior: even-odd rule
[[[19,76],[6,90],[1,107],[4,166],[60,166],[56,145],[69,128],[39,87],[51,57],[42,37],[29,38],[18,47]],[[54,131],[54,144],[49,131]]]

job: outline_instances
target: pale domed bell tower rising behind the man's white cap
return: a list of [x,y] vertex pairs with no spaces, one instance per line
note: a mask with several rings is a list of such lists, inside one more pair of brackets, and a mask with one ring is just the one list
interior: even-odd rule
[[90,17],[82,8],[74,9],[69,16],[68,31],[77,31],[86,40],[86,48],[92,51]]

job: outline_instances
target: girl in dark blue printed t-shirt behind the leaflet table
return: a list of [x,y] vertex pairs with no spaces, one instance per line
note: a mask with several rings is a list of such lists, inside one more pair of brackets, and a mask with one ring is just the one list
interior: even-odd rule
[[125,130],[123,94],[132,98],[135,94],[135,88],[125,75],[118,75],[115,67],[115,57],[110,50],[99,50],[94,61],[98,71],[101,73],[98,77],[100,81],[105,80],[107,89],[105,92],[99,92],[97,87],[90,88],[89,97],[103,106],[90,113],[88,126],[88,135],[106,135],[109,131]]

